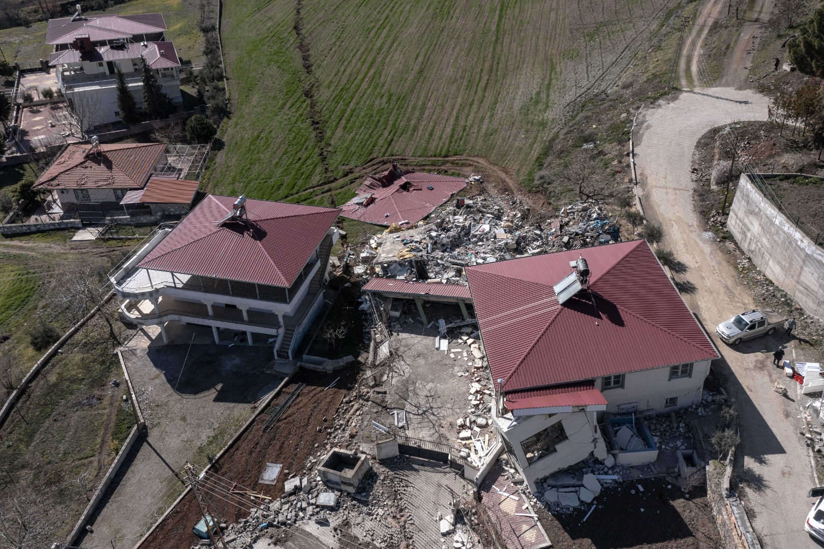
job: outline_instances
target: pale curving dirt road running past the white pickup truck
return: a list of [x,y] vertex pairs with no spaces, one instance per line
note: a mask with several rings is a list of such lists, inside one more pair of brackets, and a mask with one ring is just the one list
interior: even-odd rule
[[[780,336],[762,337],[737,347],[724,345],[714,326],[755,306],[739,273],[727,260],[727,251],[714,237],[702,237],[701,220],[693,209],[690,167],[695,143],[707,129],[735,120],[765,120],[767,100],[751,91],[730,88],[701,90],[712,96],[682,93],[677,100],[657,106],[639,117],[636,136],[640,195],[647,218],[660,223],[663,245],[675,252],[686,271],[677,274],[681,288],[693,288],[684,298],[713,336],[737,398],[741,422],[743,471],[751,517],[765,547],[803,549],[817,547],[803,530],[812,503],[806,497],[813,486],[812,467],[801,437],[796,387],[790,397],[772,391],[780,371],[771,353],[784,344]],[[686,283],[686,284],[685,284]],[[691,283],[693,286],[691,286]],[[784,378],[785,379],[785,378]]]

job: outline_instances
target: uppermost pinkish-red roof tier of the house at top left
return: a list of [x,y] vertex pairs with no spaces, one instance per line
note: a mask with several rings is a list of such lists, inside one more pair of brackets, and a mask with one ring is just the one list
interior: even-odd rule
[[70,44],[77,35],[89,35],[92,42],[131,38],[133,35],[150,35],[166,30],[162,13],[141,13],[131,16],[106,14],[86,16],[77,21],[71,17],[49,19],[46,44]]

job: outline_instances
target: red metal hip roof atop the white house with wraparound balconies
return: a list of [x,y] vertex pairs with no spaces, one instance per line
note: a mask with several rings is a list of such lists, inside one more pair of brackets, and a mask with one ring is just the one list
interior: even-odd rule
[[245,223],[220,223],[232,196],[206,195],[138,264],[216,279],[291,286],[339,210],[246,200]]

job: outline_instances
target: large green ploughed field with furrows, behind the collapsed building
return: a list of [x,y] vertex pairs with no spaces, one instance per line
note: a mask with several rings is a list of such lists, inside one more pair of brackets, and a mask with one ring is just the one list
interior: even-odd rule
[[318,189],[390,155],[485,157],[529,181],[564,105],[611,86],[677,2],[319,0],[300,40],[301,3],[225,3],[233,112],[209,190],[339,204],[353,182]]

